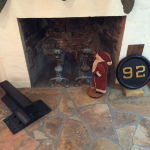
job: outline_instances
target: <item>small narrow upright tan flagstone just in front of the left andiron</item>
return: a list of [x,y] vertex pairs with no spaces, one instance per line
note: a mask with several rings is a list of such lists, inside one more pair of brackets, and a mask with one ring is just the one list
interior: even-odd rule
[[74,110],[73,102],[68,94],[62,92],[59,111],[70,116]]

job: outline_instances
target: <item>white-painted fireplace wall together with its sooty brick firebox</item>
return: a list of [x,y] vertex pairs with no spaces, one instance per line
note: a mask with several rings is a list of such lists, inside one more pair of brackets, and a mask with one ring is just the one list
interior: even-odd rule
[[53,50],[59,45],[62,76],[73,86],[88,43],[90,67],[95,53],[110,53],[108,84],[114,83],[116,66],[129,45],[144,45],[143,55],[150,59],[149,12],[146,0],[137,0],[128,15],[118,0],[8,1],[0,13],[0,81],[9,80],[16,87],[48,87],[55,76]]

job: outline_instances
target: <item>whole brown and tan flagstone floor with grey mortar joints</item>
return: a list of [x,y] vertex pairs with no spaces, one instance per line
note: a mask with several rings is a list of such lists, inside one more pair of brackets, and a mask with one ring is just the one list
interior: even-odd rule
[[[107,88],[99,99],[88,87],[20,89],[53,111],[16,135],[3,119],[11,114],[0,101],[0,150],[150,150],[150,90],[143,97]],[[4,95],[0,89],[0,98]]]

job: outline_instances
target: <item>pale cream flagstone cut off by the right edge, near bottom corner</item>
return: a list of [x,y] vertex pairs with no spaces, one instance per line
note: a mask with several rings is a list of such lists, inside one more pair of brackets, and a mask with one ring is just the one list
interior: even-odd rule
[[133,137],[135,145],[150,146],[150,118],[143,118]]

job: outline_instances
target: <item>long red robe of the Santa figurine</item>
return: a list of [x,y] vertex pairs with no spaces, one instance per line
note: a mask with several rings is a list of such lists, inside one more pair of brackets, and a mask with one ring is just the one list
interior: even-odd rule
[[[106,62],[99,62],[93,72],[92,76],[92,84],[96,88],[96,91],[105,93],[106,92],[106,84],[107,84],[107,63]],[[101,75],[100,77],[96,77],[96,72],[99,72]]]

